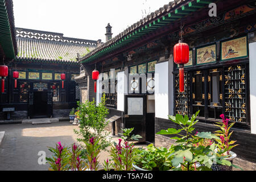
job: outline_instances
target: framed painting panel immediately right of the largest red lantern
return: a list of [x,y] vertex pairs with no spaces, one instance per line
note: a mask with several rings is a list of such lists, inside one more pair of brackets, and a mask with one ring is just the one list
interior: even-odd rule
[[216,62],[216,44],[196,49],[196,64]]

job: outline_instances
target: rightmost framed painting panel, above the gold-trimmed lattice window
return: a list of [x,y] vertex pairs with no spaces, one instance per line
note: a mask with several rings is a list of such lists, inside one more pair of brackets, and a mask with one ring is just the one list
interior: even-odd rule
[[221,61],[248,56],[247,36],[221,42]]

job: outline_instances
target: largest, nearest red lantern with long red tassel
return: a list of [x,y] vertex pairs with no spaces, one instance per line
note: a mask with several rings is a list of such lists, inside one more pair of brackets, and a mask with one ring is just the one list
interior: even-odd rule
[[180,92],[184,92],[184,64],[189,61],[189,47],[186,43],[177,43],[174,46],[174,62],[179,64]]

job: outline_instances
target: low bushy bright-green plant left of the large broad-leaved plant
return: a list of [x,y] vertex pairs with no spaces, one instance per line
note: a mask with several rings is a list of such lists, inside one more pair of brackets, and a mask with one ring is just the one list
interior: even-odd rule
[[150,171],[167,171],[174,168],[171,163],[173,152],[172,147],[167,150],[149,144],[147,149],[138,148],[135,151],[134,164]]

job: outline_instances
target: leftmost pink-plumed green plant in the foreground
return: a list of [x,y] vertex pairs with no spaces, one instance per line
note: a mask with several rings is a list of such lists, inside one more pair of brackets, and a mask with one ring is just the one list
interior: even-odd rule
[[51,158],[46,158],[50,164],[52,171],[65,171],[69,169],[69,154],[68,147],[62,146],[61,142],[57,142],[56,147],[48,147],[48,150],[53,153]]

